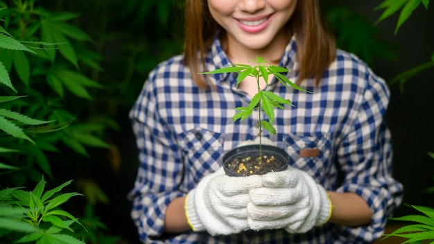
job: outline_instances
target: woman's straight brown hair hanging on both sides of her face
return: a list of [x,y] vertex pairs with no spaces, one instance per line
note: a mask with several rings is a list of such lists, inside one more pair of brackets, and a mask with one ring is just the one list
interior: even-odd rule
[[[297,59],[300,63],[297,83],[315,78],[318,85],[322,71],[333,62],[336,53],[335,40],[324,25],[319,1],[297,1],[287,26],[297,39]],[[205,70],[205,62],[200,63],[200,60],[205,60],[205,53],[211,47],[218,28],[209,12],[207,0],[186,0],[184,62],[198,87],[207,88],[204,76],[198,75],[199,65]]]

